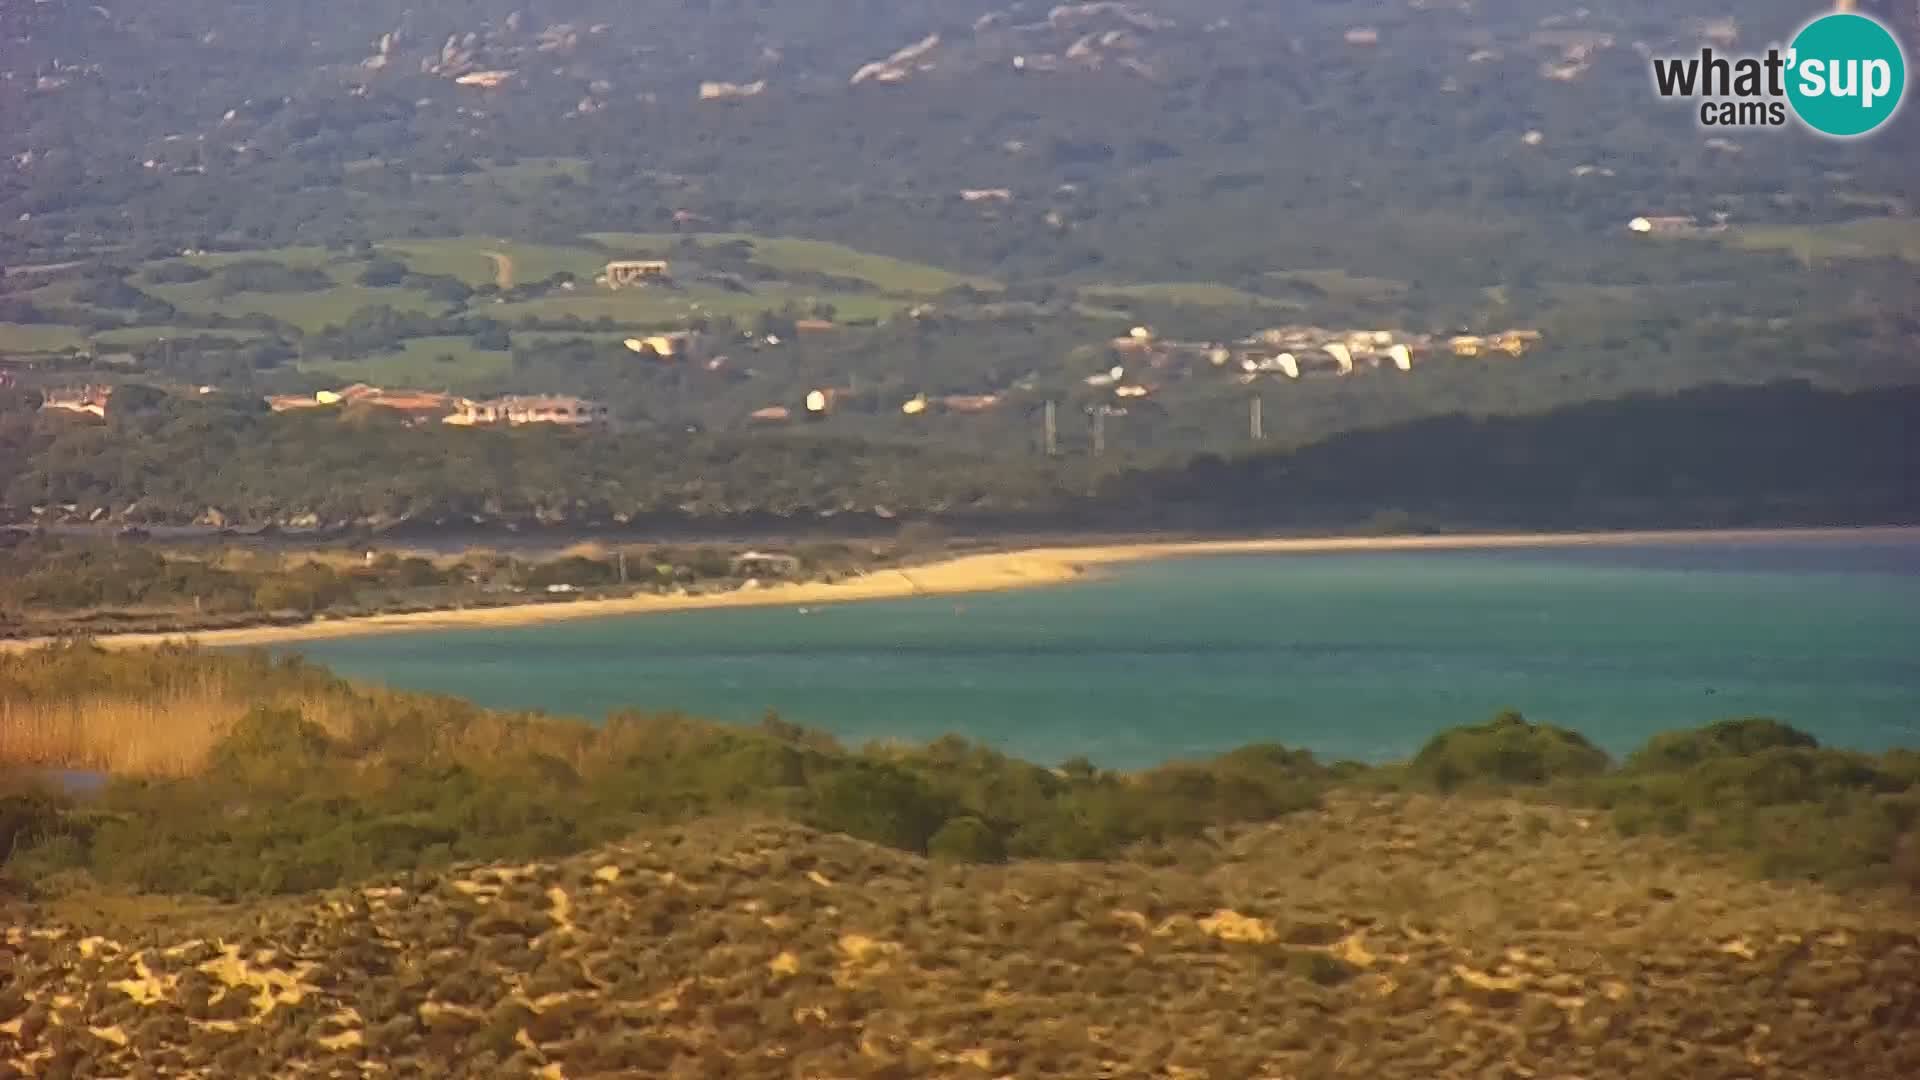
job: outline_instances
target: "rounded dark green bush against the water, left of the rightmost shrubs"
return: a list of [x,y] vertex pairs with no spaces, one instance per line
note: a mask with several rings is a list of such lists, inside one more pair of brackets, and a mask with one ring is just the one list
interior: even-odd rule
[[1597,776],[1609,765],[1607,751],[1580,732],[1534,724],[1507,711],[1484,724],[1436,734],[1413,757],[1409,774],[1438,792],[1453,792],[1476,784],[1546,784]]

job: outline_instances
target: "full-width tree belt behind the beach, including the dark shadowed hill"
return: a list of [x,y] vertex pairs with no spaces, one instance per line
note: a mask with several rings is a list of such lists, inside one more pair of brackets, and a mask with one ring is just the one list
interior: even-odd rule
[[[12,409],[6,407],[12,400]],[[833,434],[445,430],[382,409],[123,386],[106,425],[0,394],[10,515],[632,525],[868,515],[960,527],[1461,528],[1905,523],[1920,388],[1805,382],[1453,415],[1179,467]],[[67,509],[71,507],[71,509]]]

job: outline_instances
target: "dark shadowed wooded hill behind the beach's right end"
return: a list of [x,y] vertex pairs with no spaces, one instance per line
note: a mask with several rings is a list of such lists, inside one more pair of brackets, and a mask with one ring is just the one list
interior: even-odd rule
[[1920,515],[1914,417],[1920,388],[1705,386],[1198,455],[1117,477],[1100,498],[1219,525],[1382,511],[1407,525],[1557,528],[1893,523]]

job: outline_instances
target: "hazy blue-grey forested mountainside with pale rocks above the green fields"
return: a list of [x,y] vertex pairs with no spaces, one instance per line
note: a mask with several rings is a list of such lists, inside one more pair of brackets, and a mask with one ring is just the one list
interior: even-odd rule
[[[1588,263],[1565,242],[1634,213],[1843,215],[1860,204],[1841,196],[1862,192],[1910,206],[1912,113],[1857,144],[1751,133],[1728,148],[1653,100],[1645,54],[1764,48],[1807,13],[50,0],[4,15],[0,236],[48,254],[576,234],[682,213],[1023,275],[1400,277],[1446,259],[1452,279],[1488,284]],[[534,156],[591,171],[541,198],[451,200],[428,181]],[[1014,200],[983,215],[962,188]]]

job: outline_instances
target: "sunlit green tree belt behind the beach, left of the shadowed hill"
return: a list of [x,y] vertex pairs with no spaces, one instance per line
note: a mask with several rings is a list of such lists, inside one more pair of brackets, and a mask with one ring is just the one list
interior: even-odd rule
[[[138,400],[138,402],[136,402]],[[818,517],[881,507],[1043,505],[1050,480],[981,457],[812,436],[407,427],[378,407],[273,415],[257,398],[115,390],[109,419],[0,415],[6,503],[96,509],[117,521],[612,525],[657,513],[695,521]]]

